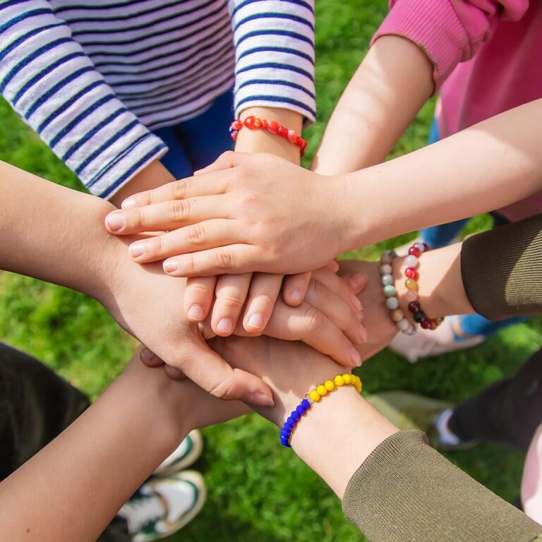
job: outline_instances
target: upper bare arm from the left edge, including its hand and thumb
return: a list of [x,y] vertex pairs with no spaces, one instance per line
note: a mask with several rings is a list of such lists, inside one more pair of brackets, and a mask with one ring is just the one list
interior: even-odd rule
[[107,234],[104,200],[0,162],[0,268],[82,291],[170,366],[223,399],[272,402],[253,375],[232,371],[179,311],[184,281],[133,265]]

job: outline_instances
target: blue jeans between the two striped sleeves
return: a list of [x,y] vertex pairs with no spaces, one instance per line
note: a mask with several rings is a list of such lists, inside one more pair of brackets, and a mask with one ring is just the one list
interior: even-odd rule
[[233,119],[234,95],[229,90],[193,119],[158,128],[155,134],[169,147],[162,164],[175,179],[189,177],[196,169],[208,166],[222,152],[233,148],[228,131]]

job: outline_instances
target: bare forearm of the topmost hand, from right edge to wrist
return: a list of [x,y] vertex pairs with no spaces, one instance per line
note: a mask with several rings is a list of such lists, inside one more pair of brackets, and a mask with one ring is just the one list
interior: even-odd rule
[[348,246],[498,209],[542,188],[536,100],[385,164],[344,176]]

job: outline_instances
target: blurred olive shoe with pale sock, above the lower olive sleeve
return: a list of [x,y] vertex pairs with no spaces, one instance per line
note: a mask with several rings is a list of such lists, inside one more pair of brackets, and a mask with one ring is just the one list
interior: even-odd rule
[[460,440],[447,426],[453,404],[410,392],[382,392],[366,397],[380,414],[402,430],[417,429],[426,433],[429,443],[440,450],[460,450],[476,445],[474,440]]

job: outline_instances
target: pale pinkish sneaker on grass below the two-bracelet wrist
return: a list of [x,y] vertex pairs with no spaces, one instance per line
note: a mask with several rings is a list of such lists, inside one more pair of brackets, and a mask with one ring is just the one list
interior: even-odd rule
[[457,337],[454,331],[455,318],[458,317],[449,316],[436,330],[423,330],[421,327],[416,327],[412,335],[397,333],[390,343],[390,349],[411,363],[416,363],[419,358],[430,358],[476,347],[486,340],[483,335]]

